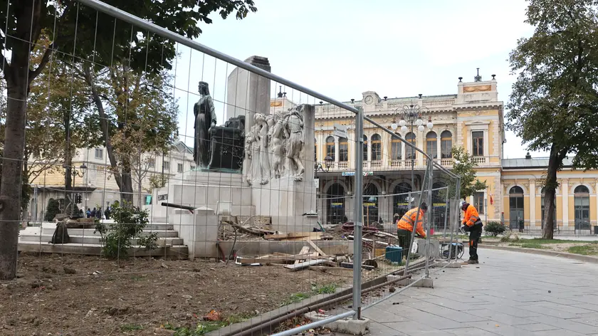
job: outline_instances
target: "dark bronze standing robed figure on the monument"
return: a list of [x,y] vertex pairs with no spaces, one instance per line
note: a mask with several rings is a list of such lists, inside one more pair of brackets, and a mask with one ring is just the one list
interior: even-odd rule
[[195,115],[193,159],[197,167],[207,168],[210,164],[210,129],[216,126],[216,112],[214,112],[214,102],[210,97],[208,83],[199,82],[198,89],[201,99],[193,107]]

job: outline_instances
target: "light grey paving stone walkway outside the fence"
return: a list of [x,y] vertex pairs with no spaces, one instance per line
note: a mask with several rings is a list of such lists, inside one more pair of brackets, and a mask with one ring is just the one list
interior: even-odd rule
[[[364,311],[370,335],[598,335],[598,265],[480,250],[479,265],[431,275]],[[436,279],[438,278],[438,279]]]

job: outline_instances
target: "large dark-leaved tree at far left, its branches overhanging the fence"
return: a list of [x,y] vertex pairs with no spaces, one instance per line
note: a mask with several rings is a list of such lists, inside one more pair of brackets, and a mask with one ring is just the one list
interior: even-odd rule
[[[198,23],[211,23],[208,15],[217,11],[224,19],[235,12],[243,19],[250,11],[256,11],[253,0],[108,0],[141,19],[186,36],[196,38],[201,33]],[[6,79],[8,102],[4,130],[3,174],[0,185],[0,222],[19,222],[19,194],[22,186],[22,160],[25,143],[27,96],[30,85],[46,68],[54,51],[70,53],[71,60],[87,60],[95,64],[112,64],[112,55],[123,59],[125,51],[132,48],[131,39],[148,41],[138,43],[130,53],[130,66],[157,73],[170,68],[174,58],[174,41],[164,38],[147,38],[142,29],[115,18],[80,6],[77,1],[52,0],[0,0],[0,8],[8,9],[0,16],[0,43],[2,50],[10,51],[10,60],[0,53],[0,68]],[[168,13],[168,15],[164,15]],[[42,31],[51,31],[52,41],[35,68],[29,65],[32,47],[38,43]],[[118,31],[119,33],[115,33]],[[147,48],[149,47],[149,48]],[[65,54],[63,54],[65,55]],[[61,56],[56,53],[56,56]],[[84,62],[85,63],[85,62]],[[102,123],[107,134],[107,125]],[[107,144],[109,145],[109,144]],[[0,280],[16,276],[16,254],[19,239],[18,225],[0,226]]]

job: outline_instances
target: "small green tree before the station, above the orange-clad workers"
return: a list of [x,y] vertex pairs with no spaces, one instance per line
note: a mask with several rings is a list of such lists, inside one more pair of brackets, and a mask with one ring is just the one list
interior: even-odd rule
[[[453,147],[451,149],[453,154],[453,174],[456,174],[461,178],[461,190],[459,195],[461,199],[466,199],[468,196],[472,196],[478,190],[486,189],[488,186],[486,182],[481,182],[476,178],[475,167],[478,166],[473,161],[473,157],[463,147]],[[456,185],[455,182],[449,184],[449,195],[455,194]]]

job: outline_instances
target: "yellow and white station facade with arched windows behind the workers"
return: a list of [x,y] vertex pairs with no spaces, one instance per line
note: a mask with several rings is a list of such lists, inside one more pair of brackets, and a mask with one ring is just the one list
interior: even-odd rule
[[[457,93],[408,98],[380,97],[366,91],[362,99],[347,102],[364,110],[364,114],[392,130],[407,107],[420,107],[424,125],[394,132],[414,143],[446,169],[452,169],[451,148],[463,147],[477,164],[477,178],[487,188],[476,192],[468,201],[479,210],[483,221],[503,221],[513,229],[542,228],[542,178],[547,159],[526,157],[504,159],[505,125],[503,102],[498,100],[497,81],[475,78],[457,83]],[[338,137],[335,127],[346,127],[347,137]],[[355,118],[352,113],[320,104],[315,115],[315,159],[320,164],[318,178],[318,214],[323,222],[337,223],[353,219],[351,195],[355,190]],[[394,214],[408,209],[405,193],[418,191],[424,179],[424,157],[411,154],[399,140],[378,127],[364,125],[364,195],[372,195],[364,208],[366,221],[392,221]],[[326,163],[328,164],[326,165]],[[318,167],[318,164],[316,166]],[[411,164],[414,178],[411,182]],[[434,187],[446,186],[446,174],[439,174]],[[557,224],[562,229],[592,230],[597,225],[598,171],[573,170],[570,162],[558,173]],[[443,226],[444,200],[434,200],[434,225]]]

